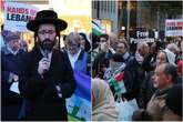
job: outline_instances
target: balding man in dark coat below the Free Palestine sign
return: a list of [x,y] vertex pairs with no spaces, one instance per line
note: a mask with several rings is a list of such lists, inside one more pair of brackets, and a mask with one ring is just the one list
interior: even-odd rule
[[140,88],[145,78],[145,72],[142,68],[144,57],[149,53],[149,45],[146,42],[138,43],[135,57],[132,57],[124,70],[124,84],[126,93],[122,94],[122,98],[128,100],[136,99],[139,103]]

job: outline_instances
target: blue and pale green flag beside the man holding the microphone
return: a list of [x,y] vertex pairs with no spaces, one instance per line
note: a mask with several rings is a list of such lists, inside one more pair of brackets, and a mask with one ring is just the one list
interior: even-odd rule
[[73,70],[77,89],[67,99],[69,121],[91,121],[91,78],[78,70]]

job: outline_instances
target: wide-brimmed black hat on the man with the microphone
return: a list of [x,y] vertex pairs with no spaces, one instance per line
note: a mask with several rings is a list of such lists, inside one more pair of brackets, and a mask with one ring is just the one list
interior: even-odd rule
[[34,20],[27,23],[27,28],[31,31],[37,31],[42,23],[52,23],[58,31],[62,31],[68,27],[68,23],[64,20],[59,19],[57,12],[53,10],[42,10],[37,13]]

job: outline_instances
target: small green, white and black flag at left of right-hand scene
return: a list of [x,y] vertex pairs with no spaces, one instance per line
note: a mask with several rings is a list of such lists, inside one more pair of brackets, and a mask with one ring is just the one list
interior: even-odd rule
[[94,21],[94,20],[92,20],[92,32],[96,35],[101,35],[105,33],[102,29],[102,26],[98,21]]

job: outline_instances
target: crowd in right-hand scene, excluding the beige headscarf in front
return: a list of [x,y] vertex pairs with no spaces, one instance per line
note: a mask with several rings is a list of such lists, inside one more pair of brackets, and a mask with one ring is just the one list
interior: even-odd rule
[[[92,78],[101,79],[110,85],[108,89],[112,91],[115,102],[119,98],[126,101],[136,100],[139,110],[133,112],[130,120],[181,121],[183,119],[182,38],[170,43],[166,41],[148,43],[148,39],[146,42],[130,43],[130,40],[120,39],[113,33],[94,35],[93,39],[95,40],[92,40],[94,45],[92,49]],[[122,75],[120,82],[123,82],[124,87],[122,85],[120,89],[125,89],[124,92],[118,91],[118,80],[115,80],[116,83],[112,82],[112,79],[116,79],[119,75]],[[93,85],[93,89],[101,89],[101,85]],[[113,106],[111,105],[111,108]],[[105,108],[105,111],[110,111],[111,108]],[[119,110],[118,106],[113,109]],[[128,110],[119,110],[119,114],[120,111]],[[102,120],[108,120],[109,115],[105,114],[105,116]],[[111,116],[111,119],[114,118]],[[101,120],[101,118],[96,120]]]

